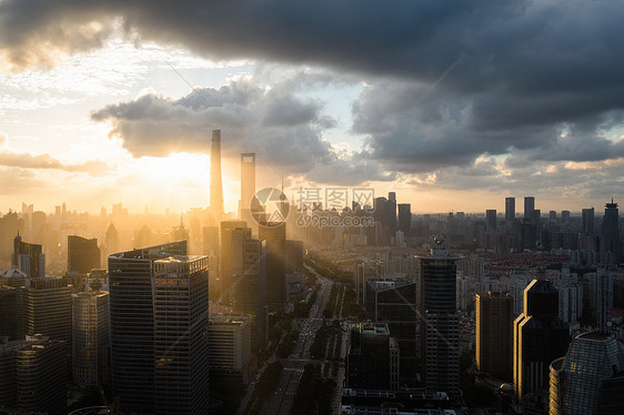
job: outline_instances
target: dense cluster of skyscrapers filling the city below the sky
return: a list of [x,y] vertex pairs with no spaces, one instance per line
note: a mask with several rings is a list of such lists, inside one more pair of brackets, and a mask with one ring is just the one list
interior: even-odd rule
[[[342,403],[352,413],[390,405],[460,414],[460,361],[472,344],[476,370],[500,386],[501,411],[622,409],[614,398],[624,392],[622,336],[607,324],[614,298],[620,301],[614,292],[622,290],[613,279],[623,257],[613,200],[601,219],[593,208],[580,217],[567,211],[545,217],[535,198],[526,196],[522,217],[515,198],[506,198],[504,216],[486,210],[484,216],[457,212],[441,220],[415,217],[391,192],[372,205],[324,211],[372,217],[372,226],[306,229],[293,225],[305,212],[288,214],[283,192],[276,193],[279,214],[265,211],[255,192],[255,154],[243,153],[240,161],[235,215],[223,208],[215,130],[210,208],[189,211],[190,229],[181,219],[163,240],[143,225],[132,246],[112,220],[100,245],[68,233],[61,276],[47,273],[43,245],[26,242],[20,232],[38,235],[41,226],[40,235],[51,239],[44,215],[24,205],[26,219],[0,217],[0,254],[11,265],[0,275],[0,406],[62,414],[64,385],[72,384],[111,397],[109,408],[128,414],[217,412],[211,383],[250,382],[258,352],[269,345],[269,316],[289,312],[288,282],[303,279],[304,247],[326,245],[349,255],[364,312],[348,331]],[[71,217],[64,204],[56,214],[59,221]],[[111,217],[119,223],[129,215],[119,204]],[[422,244],[429,252],[412,249]],[[383,255],[372,259],[365,247]],[[59,257],[53,247],[46,252]],[[565,254],[567,265],[556,281],[540,269],[524,284],[503,285],[486,279],[474,252],[501,261],[523,252]],[[583,285],[570,264],[598,266]],[[211,303],[227,312],[210,314]],[[578,324],[583,316],[591,330]]]

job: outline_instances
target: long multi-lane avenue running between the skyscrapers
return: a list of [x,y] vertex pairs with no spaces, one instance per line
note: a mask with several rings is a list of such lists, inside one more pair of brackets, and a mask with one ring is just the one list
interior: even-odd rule
[[310,347],[314,341],[314,334],[323,324],[323,310],[328,303],[333,281],[328,280],[312,271],[321,284],[316,301],[310,308],[310,317],[293,321],[293,328],[299,330],[299,340],[294,351],[289,358],[281,360],[284,371],[278,382],[273,395],[262,407],[263,415],[290,414],[292,402],[296,395],[299,381],[303,374],[303,368],[308,363],[319,363],[310,358]]

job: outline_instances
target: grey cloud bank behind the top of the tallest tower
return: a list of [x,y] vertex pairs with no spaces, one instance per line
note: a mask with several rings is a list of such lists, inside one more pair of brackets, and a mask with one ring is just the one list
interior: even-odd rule
[[194,90],[179,100],[147,94],[107,105],[91,118],[108,122],[111,136],[122,138],[134,156],[209,152],[211,131],[219,129],[225,158],[255,151],[263,163],[312,181],[389,180],[374,161],[361,154],[342,158],[322,139],[335,124],[322,109],[323,102],[299,98],[283,84],[265,90],[239,79],[219,89]]

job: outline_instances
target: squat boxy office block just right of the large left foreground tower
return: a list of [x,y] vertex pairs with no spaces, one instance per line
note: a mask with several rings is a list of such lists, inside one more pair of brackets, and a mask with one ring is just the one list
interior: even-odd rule
[[[251,363],[251,323],[242,315],[214,315],[208,324],[210,376],[246,384]],[[212,382],[212,381],[211,381]]]

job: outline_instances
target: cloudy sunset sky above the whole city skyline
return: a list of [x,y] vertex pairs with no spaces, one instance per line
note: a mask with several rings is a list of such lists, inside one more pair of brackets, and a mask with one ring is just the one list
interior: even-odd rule
[[[259,185],[415,212],[624,195],[624,3],[0,1],[0,190],[99,211],[208,204],[222,130]],[[517,206],[522,211],[522,206]]]

